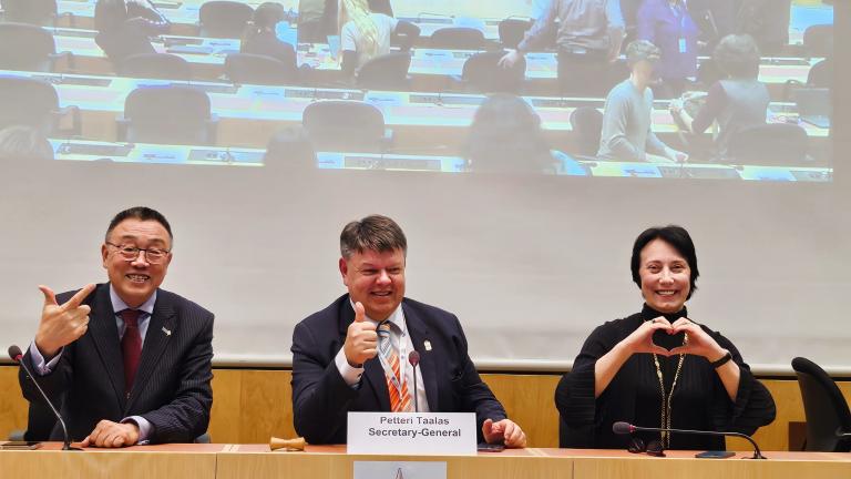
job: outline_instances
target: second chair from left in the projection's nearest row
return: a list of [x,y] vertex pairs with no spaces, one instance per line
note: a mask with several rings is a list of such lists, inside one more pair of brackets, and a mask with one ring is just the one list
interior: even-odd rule
[[218,118],[202,90],[151,85],[127,94],[116,126],[121,142],[214,145]]

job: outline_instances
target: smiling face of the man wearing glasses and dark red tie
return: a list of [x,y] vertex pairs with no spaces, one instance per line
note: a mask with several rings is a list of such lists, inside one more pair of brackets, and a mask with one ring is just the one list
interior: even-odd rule
[[[156,221],[127,218],[119,223],[109,234],[107,242],[119,246],[137,248],[171,249],[172,241],[165,227]],[[135,258],[125,259],[119,248],[104,243],[101,246],[103,267],[119,297],[130,307],[139,307],[154,294],[165,278],[172,253],[157,264],[147,259],[147,253],[140,252]]]

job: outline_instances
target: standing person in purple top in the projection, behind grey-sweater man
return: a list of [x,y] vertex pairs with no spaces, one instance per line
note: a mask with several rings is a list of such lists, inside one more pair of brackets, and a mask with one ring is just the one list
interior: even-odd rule
[[697,73],[697,35],[685,0],[645,0],[638,9],[638,39],[662,50],[656,64],[660,84],[654,85],[657,98],[679,96],[687,79]]

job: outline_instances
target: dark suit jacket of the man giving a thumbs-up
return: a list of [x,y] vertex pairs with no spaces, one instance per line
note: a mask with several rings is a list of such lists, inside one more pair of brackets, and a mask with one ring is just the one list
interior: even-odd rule
[[[404,298],[404,322],[414,349],[432,412],[475,412],[479,440],[482,422],[505,418],[505,410],[482,383],[466,354],[466,338],[458,318],[442,309]],[[349,295],[296,325],[293,332],[293,415],[296,431],[309,444],[346,442],[348,411],[389,411],[385,370],[377,358],[365,364],[360,387],[340,376],[335,356],[355,320]],[[431,344],[427,350],[424,342]]]

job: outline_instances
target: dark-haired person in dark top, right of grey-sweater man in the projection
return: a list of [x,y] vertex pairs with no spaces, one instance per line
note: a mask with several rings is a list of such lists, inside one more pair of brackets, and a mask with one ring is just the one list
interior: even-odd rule
[[730,136],[746,126],[766,123],[771,99],[766,85],[757,80],[760,55],[750,35],[725,37],[715,48],[712,60],[727,78],[710,86],[697,115],[691,118],[681,100],[670,102],[670,111],[693,133],[703,133],[717,122],[716,156],[724,160]]

